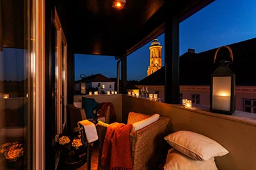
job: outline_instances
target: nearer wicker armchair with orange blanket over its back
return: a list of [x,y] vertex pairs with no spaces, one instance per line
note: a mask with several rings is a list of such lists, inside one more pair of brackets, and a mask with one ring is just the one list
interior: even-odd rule
[[[133,124],[148,117],[150,116],[130,112],[127,124]],[[163,135],[169,121],[170,118],[160,117],[159,120],[139,131],[130,132],[131,156],[134,170],[157,169],[163,155]],[[109,167],[102,166],[100,159],[107,128],[108,124],[103,122],[99,122],[97,125],[99,136],[98,169],[106,170]]]

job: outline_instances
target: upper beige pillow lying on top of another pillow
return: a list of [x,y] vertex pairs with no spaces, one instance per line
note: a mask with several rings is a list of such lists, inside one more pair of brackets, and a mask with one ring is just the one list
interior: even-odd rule
[[177,131],[164,138],[173,148],[195,160],[221,157],[228,151],[216,141],[190,131]]

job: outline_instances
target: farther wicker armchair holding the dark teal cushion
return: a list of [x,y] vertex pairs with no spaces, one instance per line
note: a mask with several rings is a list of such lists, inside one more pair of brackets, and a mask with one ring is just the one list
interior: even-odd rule
[[[87,118],[83,108],[77,108],[73,104],[68,104],[67,110],[68,110],[68,132],[71,132],[74,129],[74,127],[77,127],[77,122],[81,120],[85,120]],[[98,121],[106,122],[107,124],[109,124],[109,115],[110,115],[109,106],[108,108],[106,108],[104,115],[105,117],[99,117]],[[92,120],[92,118],[88,120]]]

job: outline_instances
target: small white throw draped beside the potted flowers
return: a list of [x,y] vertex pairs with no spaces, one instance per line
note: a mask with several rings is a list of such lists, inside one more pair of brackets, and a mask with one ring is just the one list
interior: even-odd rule
[[84,127],[84,132],[86,134],[88,143],[92,143],[93,141],[97,141],[97,139],[99,139],[96,127],[92,122],[89,120],[82,120],[77,124],[79,128],[81,128],[81,126]]

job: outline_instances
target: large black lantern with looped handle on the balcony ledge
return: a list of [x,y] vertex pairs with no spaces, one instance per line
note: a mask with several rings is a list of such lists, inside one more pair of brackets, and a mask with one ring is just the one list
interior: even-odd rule
[[[230,47],[227,48],[233,62],[233,53]],[[218,48],[214,55],[214,63],[216,61]],[[231,62],[231,63],[232,63]],[[210,110],[216,113],[224,113],[232,115],[235,111],[235,90],[236,90],[236,74],[228,67],[230,61],[221,60],[220,66],[211,74],[210,87]]]

